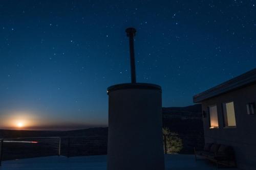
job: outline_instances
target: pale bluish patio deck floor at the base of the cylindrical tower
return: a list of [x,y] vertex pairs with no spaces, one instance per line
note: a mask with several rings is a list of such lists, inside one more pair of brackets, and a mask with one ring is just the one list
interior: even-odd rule
[[[106,155],[64,157],[48,156],[39,158],[3,161],[0,170],[106,170]],[[194,155],[165,155],[166,170],[213,170],[215,164],[207,161],[195,161]],[[225,168],[229,170],[238,168]]]

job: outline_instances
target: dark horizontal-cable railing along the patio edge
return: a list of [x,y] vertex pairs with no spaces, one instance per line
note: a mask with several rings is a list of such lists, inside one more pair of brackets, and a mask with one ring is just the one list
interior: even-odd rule
[[[164,153],[170,149],[170,137],[163,135]],[[106,155],[108,136],[31,137],[0,139],[0,165],[2,160],[43,156]]]

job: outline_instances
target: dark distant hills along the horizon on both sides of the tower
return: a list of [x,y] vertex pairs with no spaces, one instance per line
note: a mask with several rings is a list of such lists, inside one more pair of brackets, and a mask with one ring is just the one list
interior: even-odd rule
[[[168,127],[176,133],[202,133],[201,105],[187,107],[163,107],[163,127]],[[189,127],[189,128],[187,128]],[[108,128],[89,128],[71,131],[28,131],[1,130],[0,138],[14,137],[53,137],[53,136],[106,136]]]

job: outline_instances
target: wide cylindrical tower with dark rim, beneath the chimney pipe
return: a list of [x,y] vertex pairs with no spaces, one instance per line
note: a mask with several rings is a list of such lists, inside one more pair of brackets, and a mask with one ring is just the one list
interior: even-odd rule
[[108,94],[108,170],[164,170],[161,87],[118,84]]

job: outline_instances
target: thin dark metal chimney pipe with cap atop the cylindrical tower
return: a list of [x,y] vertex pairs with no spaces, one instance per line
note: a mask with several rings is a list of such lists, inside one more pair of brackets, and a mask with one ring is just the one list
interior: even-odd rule
[[136,29],[127,28],[125,32],[127,33],[127,37],[129,37],[129,42],[130,42],[131,80],[132,80],[132,83],[136,83],[135,57],[134,57],[134,36],[136,33]]

